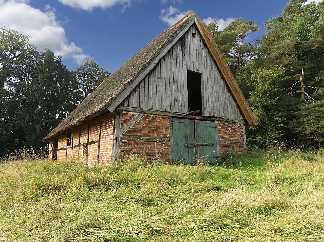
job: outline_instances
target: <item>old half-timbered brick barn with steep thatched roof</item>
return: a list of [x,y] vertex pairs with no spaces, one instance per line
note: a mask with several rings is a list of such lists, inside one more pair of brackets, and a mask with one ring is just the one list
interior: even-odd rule
[[245,150],[257,125],[207,26],[191,11],[104,80],[44,139],[50,160],[126,156],[191,164]]

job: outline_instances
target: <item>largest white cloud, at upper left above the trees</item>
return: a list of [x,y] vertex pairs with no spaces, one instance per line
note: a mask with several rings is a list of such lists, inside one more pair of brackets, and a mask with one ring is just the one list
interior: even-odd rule
[[36,46],[38,51],[47,46],[55,55],[73,58],[78,64],[90,57],[83,54],[82,49],[73,42],[68,42],[64,28],[56,20],[54,9],[46,5],[46,12],[42,12],[26,3],[27,0],[0,0],[0,26],[29,35],[29,42]]

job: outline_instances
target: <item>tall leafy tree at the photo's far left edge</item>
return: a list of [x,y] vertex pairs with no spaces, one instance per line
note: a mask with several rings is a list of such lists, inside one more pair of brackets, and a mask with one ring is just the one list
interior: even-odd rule
[[25,140],[21,107],[38,55],[29,37],[0,28],[0,154],[19,149]]

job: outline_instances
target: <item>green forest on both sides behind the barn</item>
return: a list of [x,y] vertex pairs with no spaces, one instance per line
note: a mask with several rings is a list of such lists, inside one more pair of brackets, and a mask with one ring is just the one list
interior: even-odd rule
[[[324,2],[305,3],[290,0],[256,39],[253,19],[208,25],[259,123],[247,127],[249,149],[324,147]],[[42,138],[109,75],[90,59],[69,71],[50,49],[0,28],[0,155],[46,149]]]

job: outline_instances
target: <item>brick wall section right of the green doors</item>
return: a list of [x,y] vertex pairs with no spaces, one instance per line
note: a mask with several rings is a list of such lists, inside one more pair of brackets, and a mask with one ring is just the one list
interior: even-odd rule
[[[241,134],[244,135],[244,124],[236,124]],[[241,154],[245,151],[244,139],[237,131],[235,125],[230,122],[217,121],[218,126],[218,144],[219,154],[234,150],[235,153]],[[244,136],[243,136],[244,137]]]

